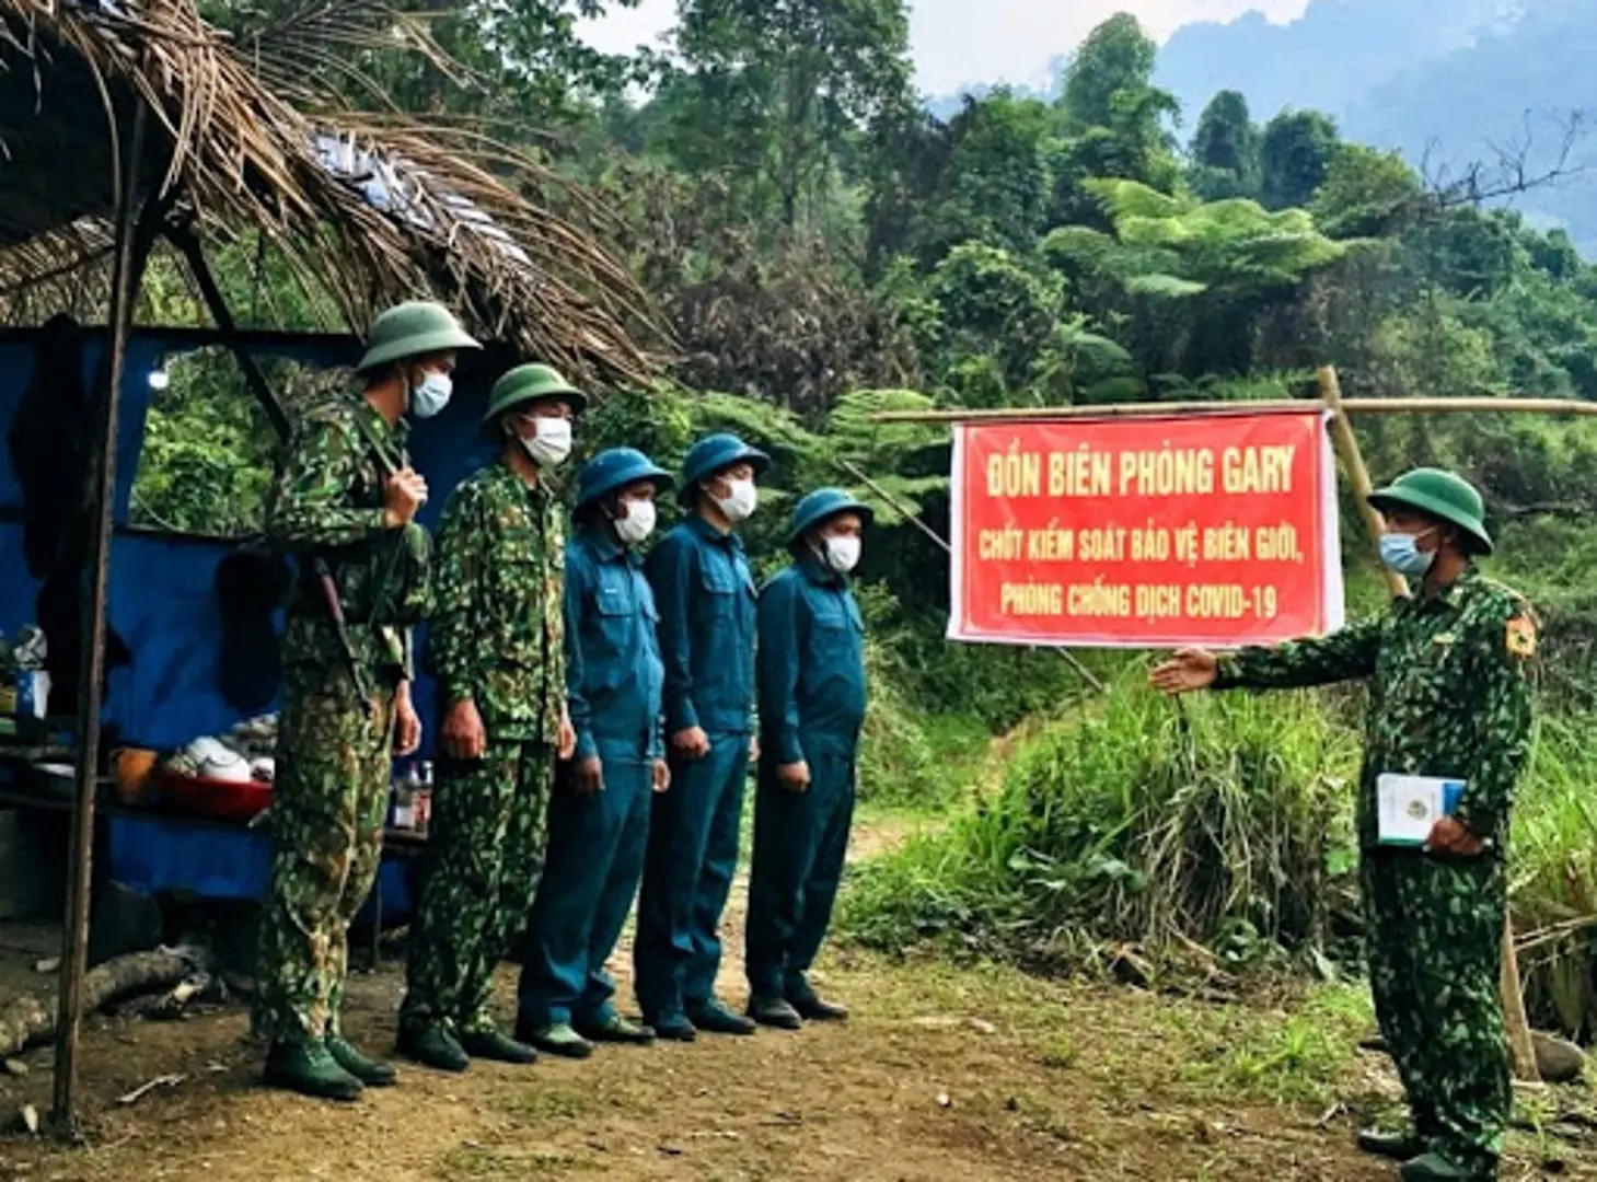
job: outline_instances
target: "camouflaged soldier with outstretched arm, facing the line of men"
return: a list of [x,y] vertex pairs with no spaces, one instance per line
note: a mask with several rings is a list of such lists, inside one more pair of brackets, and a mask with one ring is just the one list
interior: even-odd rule
[[[1492,540],[1469,484],[1421,468],[1370,500],[1386,518],[1381,554],[1420,580],[1415,597],[1322,641],[1222,658],[1182,652],[1153,682],[1180,693],[1370,680],[1357,802],[1370,990],[1413,1128],[1369,1131],[1359,1145],[1402,1160],[1405,1179],[1488,1179],[1511,1101],[1504,856],[1530,748],[1536,618],[1522,596],[1476,572]],[[1466,781],[1421,848],[1380,842],[1383,773]]]

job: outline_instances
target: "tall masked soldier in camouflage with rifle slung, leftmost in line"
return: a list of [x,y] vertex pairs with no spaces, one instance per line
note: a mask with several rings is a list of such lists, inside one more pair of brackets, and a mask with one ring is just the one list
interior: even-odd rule
[[394,1081],[339,1030],[347,933],[377,877],[393,751],[422,736],[410,625],[428,597],[428,537],[414,521],[426,484],[404,415],[438,414],[457,350],[476,347],[438,303],[378,316],[361,395],[307,417],[267,505],[267,532],[294,551],[300,581],[283,637],[254,1027],[271,1041],[267,1083],[308,1096],[351,1101]]

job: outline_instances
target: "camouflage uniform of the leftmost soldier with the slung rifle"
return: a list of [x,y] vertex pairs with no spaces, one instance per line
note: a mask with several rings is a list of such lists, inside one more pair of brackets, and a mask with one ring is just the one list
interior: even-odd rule
[[[364,399],[308,415],[278,468],[267,532],[300,561],[283,637],[283,716],[260,930],[256,1033],[318,1043],[339,1033],[347,933],[377,877],[388,808],[394,690],[409,677],[409,621],[426,605],[426,533],[385,529],[406,425]],[[372,695],[364,712],[313,559],[326,559]]]

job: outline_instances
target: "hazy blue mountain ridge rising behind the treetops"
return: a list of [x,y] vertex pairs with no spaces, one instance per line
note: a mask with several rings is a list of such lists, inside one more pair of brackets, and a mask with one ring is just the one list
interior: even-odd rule
[[[1496,173],[1501,158],[1522,158],[1527,174],[1540,176],[1568,145],[1563,180],[1517,195],[1516,204],[1540,225],[1565,227],[1592,256],[1597,139],[1583,121],[1575,136],[1565,125],[1575,112],[1597,115],[1594,54],[1594,0],[1313,0],[1281,24],[1250,11],[1182,26],[1159,48],[1155,83],[1180,102],[1182,139],[1215,93],[1233,89],[1258,123],[1321,110],[1346,139],[1397,150],[1433,182],[1476,161]],[[1011,93],[1056,97],[1067,61],[1056,59],[1051,93]],[[941,118],[961,105],[963,94],[928,101]]]

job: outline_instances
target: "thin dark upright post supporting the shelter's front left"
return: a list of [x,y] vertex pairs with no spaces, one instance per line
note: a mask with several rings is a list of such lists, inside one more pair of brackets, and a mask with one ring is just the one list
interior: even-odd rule
[[[110,573],[112,513],[117,502],[117,414],[133,327],[141,254],[147,254],[153,232],[141,217],[139,196],[144,157],[145,105],[133,115],[126,160],[118,160],[121,184],[117,193],[117,249],[113,256],[110,337],[104,372],[105,395],[94,423],[96,452],[89,516],[88,602],[85,604],[83,655],[78,672],[77,717],[77,795],[72,803],[72,866],[67,883],[67,915],[61,934],[61,997],[56,1019],[56,1075],[51,1115],[57,1128],[73,1131],[73,1101],[78,1070],[78,1024],[83,1017],[83,976],[89,950],[89,882],[94,858],[94,795],[99,786],[99,724],[105,674],[105,588]],[[141,251],[141,243],[144,251]]]

